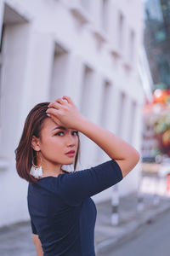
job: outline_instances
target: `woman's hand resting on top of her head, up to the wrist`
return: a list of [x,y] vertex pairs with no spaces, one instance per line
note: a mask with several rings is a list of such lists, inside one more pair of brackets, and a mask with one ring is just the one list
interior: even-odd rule
[[46,113],[58,125],[65,125],[73,129],[77,129],[77,125],[83,119],[82,114],[69,96],[63,96],[55,102],[49,103]]

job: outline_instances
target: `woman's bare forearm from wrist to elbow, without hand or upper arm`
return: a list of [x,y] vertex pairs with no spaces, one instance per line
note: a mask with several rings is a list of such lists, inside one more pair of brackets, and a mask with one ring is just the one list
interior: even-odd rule
[[77,125],[77,130],[98,144],[111,159],[125,160],[129,156],[139,157],[139,152],[129,143],[85,117],[82,117]]

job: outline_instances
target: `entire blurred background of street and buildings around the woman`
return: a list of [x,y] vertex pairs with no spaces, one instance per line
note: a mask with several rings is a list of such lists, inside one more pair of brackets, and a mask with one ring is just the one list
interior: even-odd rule
[[[141,155],[93,196],[96,255],[169,256],[170,1],[0,0],[0,255],[36,255],[14,149],[31,108],[64,95]],[[81,134],[77,172],[105,160]]]

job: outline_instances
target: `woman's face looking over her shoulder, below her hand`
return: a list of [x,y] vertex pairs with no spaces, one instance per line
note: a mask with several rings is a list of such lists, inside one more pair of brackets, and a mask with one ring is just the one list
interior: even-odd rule
[[[51,118],[44,120],[39,148],[42,160],[54,165],[71,165],[75,161],[79,138],[77,130],[57,125]],[[74,154],[66,154],[74,150]]]

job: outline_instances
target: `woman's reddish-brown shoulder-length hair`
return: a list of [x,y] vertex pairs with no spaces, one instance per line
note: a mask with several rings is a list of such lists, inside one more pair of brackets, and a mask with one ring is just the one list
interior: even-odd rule
[[[31,139],[33,135],[41,139],[41,131],[44,124],[44,120],[49,118],[46,113],[49,103],[50,102],[39,103],[31,109],[30,113],[28,113],[24,129],[20,137],[20,143],[18,147],[14,150],[16,170],[19,176],[26,179],[26,181],[28,181],[29,183],[37,182],[37,178],[31,176],[30,174],[32,159],[34,156],[36,156],[36,151],[33,148],[31,148]],[[78,141],[79,143],[77,148],[77,155],[75,157],[74,162],[74,172],[77,168],[77,160],[80,148],[79,136]],[[36,160],[34,160],[34,162],[36,162]]]

